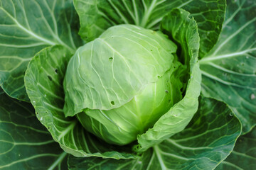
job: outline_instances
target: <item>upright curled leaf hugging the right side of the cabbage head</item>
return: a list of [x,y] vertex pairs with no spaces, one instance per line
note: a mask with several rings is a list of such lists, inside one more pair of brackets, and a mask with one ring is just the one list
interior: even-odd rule
[[[198,64],[199,36],[196,21],[189,18],[183,9],[173,9],[161,22],[161,30],[176,42],[179,59],[189,72],[186,94],[181,101],[161,116],[154,127],[142,135],[138,135],[139,152],[145,151],[156,143],[181,132],[188,125],[198,109],[198,96],[201,91],[201,72]],[[180,74],[177,72],[177,77]]]

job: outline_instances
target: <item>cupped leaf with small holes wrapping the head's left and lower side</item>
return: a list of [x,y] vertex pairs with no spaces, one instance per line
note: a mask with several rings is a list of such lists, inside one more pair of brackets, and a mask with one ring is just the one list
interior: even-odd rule
[[67,48],[55,45],[38,52],[28,64],[25,75],[26,91],[36,109],[38,120],[48,128],[53,140],[58,142],[65,152],[76,157],[95,156],[114,159],[136,157],[125,152],[129,147],[117,149],[107,145],[86,132],[76,118],[65,118],[62,84],[71,56]]

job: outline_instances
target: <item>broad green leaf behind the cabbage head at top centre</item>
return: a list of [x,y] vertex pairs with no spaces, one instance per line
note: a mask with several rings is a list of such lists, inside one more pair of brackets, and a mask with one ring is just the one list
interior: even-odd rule
[[80,35],[94,40],[107,28],[130,23],[159,30],[161,19],[172,8],[184,8],[194,16],[200,35],[200,55],[205,55],[217,42],[225,16],[225,0],[74,0],[80,16]]

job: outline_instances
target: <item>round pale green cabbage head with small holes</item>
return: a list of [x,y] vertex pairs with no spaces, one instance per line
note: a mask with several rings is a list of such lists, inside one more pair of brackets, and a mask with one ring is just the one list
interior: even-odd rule
[[136,140],[182,98],[176,50],[161,32],[128,24],[107,29],[68,64],[65,115],[111,144]]

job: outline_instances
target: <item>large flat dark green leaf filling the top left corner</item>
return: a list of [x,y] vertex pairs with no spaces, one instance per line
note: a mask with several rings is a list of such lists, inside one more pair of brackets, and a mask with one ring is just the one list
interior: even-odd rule
[[0,1],[0,86],[9,96],[29,101],[23,77],[36,52],[81,44],[77,20],[72,0]]

